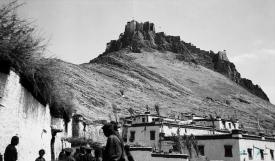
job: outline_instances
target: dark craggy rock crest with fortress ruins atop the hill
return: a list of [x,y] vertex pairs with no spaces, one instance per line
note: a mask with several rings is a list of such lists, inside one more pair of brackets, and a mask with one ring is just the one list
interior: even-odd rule
[[107,44],[106,51],[103,55],[119,51],[122,48],[130,48],[133,52],[137,53],[141,52],[142,48],[177,53],[179,60],[192,62],[217,71],[256,96],[269,101],[267,95],[258,85],[254,85],[252,81],[248,79],[241,78],[235,65],[229,61],[225,50],[219,51],[216,54],[213,51],[204,51],[191,43],[186,43],[181,40],[180,36],[170,36],[164,32],[155,33],[153,23],[139,23],[134,20],[128,22],[125,26],[124,33],[120,34],[118,40],[112,40]]

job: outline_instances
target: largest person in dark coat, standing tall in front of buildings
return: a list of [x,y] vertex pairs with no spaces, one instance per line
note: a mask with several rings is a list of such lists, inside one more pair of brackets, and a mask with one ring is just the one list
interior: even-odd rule
[[114,130],[114,124],[107,123],[103,127],[103,133],[107,139],[103,160],[104,161],[120,161],[128,160],[125,157],[123,141],[118,133]]

